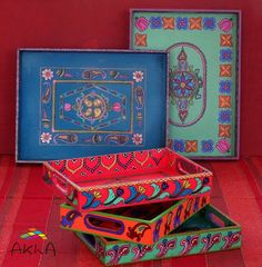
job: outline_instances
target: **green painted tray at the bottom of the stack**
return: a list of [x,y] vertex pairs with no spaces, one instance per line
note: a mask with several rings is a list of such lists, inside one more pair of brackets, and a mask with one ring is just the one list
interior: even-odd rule
[[109,266],[235,249],[241,246],[241,227],[210,205],[153,246],[121,243],[83,233],[77,233],[77,236]]

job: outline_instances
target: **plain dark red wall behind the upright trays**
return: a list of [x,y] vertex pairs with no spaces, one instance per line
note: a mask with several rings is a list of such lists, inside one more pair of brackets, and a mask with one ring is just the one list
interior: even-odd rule
[[14,152],[17,49],[128,48],[130,8],[242,10],[241,155],[262,155],[261,0],[0,0],[0,154]]

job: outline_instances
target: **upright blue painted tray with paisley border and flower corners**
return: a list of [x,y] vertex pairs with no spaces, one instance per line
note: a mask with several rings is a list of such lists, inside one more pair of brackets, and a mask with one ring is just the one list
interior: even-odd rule
[[17,160],[164,147],[167,70],[167,52],[19,50]]

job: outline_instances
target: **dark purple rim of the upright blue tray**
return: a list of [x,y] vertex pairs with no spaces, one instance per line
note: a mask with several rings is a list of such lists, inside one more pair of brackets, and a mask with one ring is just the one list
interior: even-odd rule
[[[16,164],[42,164],[43,161],[46,161],[44,159],[42,160],[34,160],[34,159],[21,159],[19,157],[19,118],[20,118],[20,105],[19,105],[19,96],[20,96],[20,62],[21,62],[21,57],[22,57],[22,52],[101,52],[101,53],[162,53],[165,55],[167,57],[167,70],[169,67],[169,53],[165,50],[148,50],[148,51],[141,51],[138,49],[83,49],[83,48],[18,48],[17,49],[17,75],[16,75],[16,149],[14,149],[14,154],[16,154]],[[165,76],[165,81],[167,81],[167,103],[169,103],[169,77],[168,73]],[[167,115],[169,112],[169,106],[167,105]],[[167,130],[168,130],[168,116],[165,118],[167,122],[165,122],[165,144],[168,141],[168,135],[167,135]],[[98,155],[99,156],[99,155]]]

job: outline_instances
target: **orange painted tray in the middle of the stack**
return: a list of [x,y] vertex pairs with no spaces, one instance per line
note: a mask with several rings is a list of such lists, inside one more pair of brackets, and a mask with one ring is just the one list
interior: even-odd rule
[[60,206],[63,229],[153,245],[210,202],[209,196],[81,214]]

